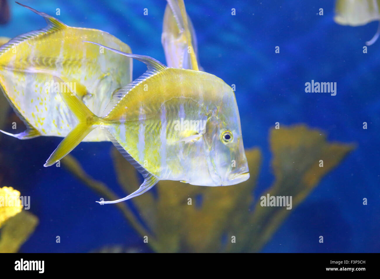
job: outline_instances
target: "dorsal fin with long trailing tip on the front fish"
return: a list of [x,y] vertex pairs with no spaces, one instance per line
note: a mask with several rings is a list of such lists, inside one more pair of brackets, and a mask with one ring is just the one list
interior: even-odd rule
[[147,68],[148,68],[147,71],[144,74],[142,74],[137,79],[133,80],[131,83],[125,85],[124,87],[120,88],[118,91],[116,91],[114,93],[114,95],[112,96],[111,101],[108,103],[106,109],[102,113],[102,115],[101,115],[102,117],[107,116],[108,113],[111,112],[111,110],[117,105],[117,103],[119,103],[120,100],[125,95],[127,95],[128,92],[132,88],[134,88],[140,82],[142,82],[143,80],[146,80],[148,77],[152,76],[153,74],[157,74],[157,73],[159,73],[159,72],[161,72],[161,71],[163,71],[163,70],[165,70],[167,68],[160,61],[155,60],[154,58],[152,58],[150,56],[125,53],[125,52],[122,52],[120,50],[112,49],[111,47],[103,46],[102,44],[93,43],[93,42],[90,42],[90,41],[84,41],[84,42],[85,43],[96,44],[97,46],[104,47],[105,49],[112,50],[113,52],[116,52],[118,54],[122,54],[122,55],[125,55],[125,56],[128,56],[128,57],[134,58],[134,59],[136,59],[138,61],[141,61],[141,62],[145,63],[146,66],[147,66]]

